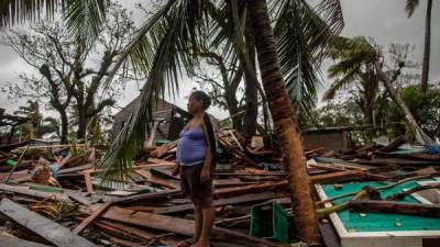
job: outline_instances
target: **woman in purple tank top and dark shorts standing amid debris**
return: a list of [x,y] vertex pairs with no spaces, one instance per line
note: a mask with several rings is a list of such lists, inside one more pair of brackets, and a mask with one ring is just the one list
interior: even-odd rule
[[212,124],[205,112],[211,99],[202,91],[195,91],[188,100],[193,119],[180,132],[177,144],[175,173],[180,173],[182,191],[194,203],[194,245],[180,242],[179,247],[210,246],[211,229],[216,216],[212,205],[212,171],[216,164],[216,141]]

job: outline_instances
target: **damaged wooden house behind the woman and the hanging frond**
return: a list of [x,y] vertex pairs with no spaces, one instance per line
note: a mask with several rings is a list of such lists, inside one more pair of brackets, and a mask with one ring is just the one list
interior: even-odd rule
[[[112,133],[114,137],[122,130],[123,125],[130,117],[130,114],[140,103],[141,101],[138,97],[125,108],[123,108],[118,114],[116,114],[112,127]],[[184,128],[190,116],[191,115],[182,108],[161,99],[157,103],[157,108],[153,110],[153,121],[157,122],[154,141],[177,139],[180,131]],[[210,117],[212,122],[218,122],[212,115],[210,115]],[[154,124],[152,126],[154,126]],[[148,139],[148,136],[145,136],[145,141],[146,139]]]

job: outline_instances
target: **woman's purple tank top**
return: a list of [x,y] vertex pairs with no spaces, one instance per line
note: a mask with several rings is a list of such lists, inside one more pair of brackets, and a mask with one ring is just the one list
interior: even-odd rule
[[176,157],[182,166],[201,165],[205,160],[208,144],[201,127],[190,131],[183,130],[177,143]]

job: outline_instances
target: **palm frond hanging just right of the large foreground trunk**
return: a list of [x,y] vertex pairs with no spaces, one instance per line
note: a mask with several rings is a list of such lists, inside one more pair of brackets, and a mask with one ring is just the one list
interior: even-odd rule
[[315,8],[304,0],[280,2],[271,8],[279,65],[299,121],[306,122],[321,87],[320,64],[343,26],[341,8],[333,0]]

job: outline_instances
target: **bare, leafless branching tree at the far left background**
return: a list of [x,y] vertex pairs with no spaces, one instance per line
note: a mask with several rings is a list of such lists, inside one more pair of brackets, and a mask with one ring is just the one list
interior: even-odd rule
[[110,4],[107,11],[109,21],[94,43],[74,41],[62,23],[48,21],[33,25],[32,33],[22,30],[4,32],[0,40],[0,44],[10,46],[42,76],[21,75],[24,83],[12,83],[10,91],[19,97],[46,99],[61,115],[63,143],[67,142],[70,105],[78,113],[77,138],[85,138],[89,120],[113,105],[112,98],[123,86],[123,75],[112,83],[105,81],[128,42],[127,33],[133,31],[133,23],[120,5]]

